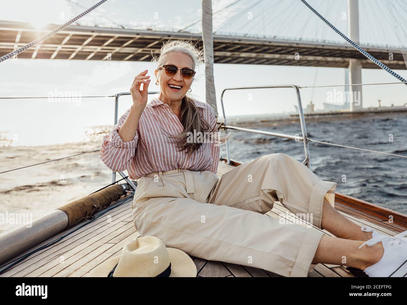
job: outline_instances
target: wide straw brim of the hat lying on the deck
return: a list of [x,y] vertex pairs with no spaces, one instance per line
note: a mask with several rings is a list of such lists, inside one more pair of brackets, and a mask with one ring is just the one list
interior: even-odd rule
[[[171,262],[170,277],[197,276],[197,267],[188,254],[176,248],[167,248],[167,250]],[[106,259],[103,263],[92,269],[86,277],[107,277],[119,259],[120,255]]]

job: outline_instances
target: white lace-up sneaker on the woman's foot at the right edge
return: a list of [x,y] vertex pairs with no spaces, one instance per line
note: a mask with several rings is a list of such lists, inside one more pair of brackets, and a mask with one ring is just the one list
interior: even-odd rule
[[407,238],[403,238],[405,235],[407,231],[396,236],[378,234],[359,247],[372,246],[378,242],[383,244],[382,258],[364,270],[369,277],[407,277]]

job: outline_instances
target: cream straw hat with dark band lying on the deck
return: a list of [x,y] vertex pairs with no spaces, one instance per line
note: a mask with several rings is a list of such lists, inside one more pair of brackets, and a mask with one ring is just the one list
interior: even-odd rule
[[166,248],[154,236],[139,237],[89,272],[88,277],[196,277],[197,267],[184,251]]

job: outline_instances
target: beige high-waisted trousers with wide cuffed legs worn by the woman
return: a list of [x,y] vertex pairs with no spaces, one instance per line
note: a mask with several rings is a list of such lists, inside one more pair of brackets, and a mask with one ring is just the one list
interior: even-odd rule
[[241,164],[221,178],[210,171],[173,170],[138,179],[131,208],[141,236],[160,238],[191,256],[306,277],[323,232],[263,215],[274,201],[311,215],[321,229],[324,198],[337,183],[277,153]]

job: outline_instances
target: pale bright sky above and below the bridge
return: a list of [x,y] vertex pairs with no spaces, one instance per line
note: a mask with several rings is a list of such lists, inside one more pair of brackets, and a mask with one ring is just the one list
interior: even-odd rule
[[[334,40],[341,37],[326,26],[300,0],[219,0],[213,1],[215,33],[234,33]],[[76,4],[75,4],[76,2]],[[39,5],[39,3],[41,5]],[[79,4],[80,3],[80,4]],[[20,0],[0,2],[0,20],[63,24],[82,13],[96,0]],[[339,30],[347,34],[346,0],[310,0],[309,3]],[[228,7],[232,4],[230,7]],[[219,12],[218,12],[219,11]],[[407,0],[360,0],[360,42],[407,48]],[[252,15],[252,19],[247,16]],[[345,19],[344,19],[345,17]],[[201,18],[201,1],[108,0],[79,20],[88,26],[124,26],[179,30]],[[188,27],[199,32],[200,22]],[[150,62],[76,61],[9,59],[0,63],[0,97],[49,96],[50,92],[70,91],[81,96],[109,96],[128,92],[136,76],[148,69],[149,91],[158,90]],[[191,94],[205,100],[204,67],[197,67]],[[407,78],[406,70],[396,70]],[[214,64],[218,111],[225,88],[270,84],[300,86],[339,85],[345,82],[345,69],[289,67],[273,65]],[[396,79],[381,69],[363,69],[363,83],[386,83]],[[363,107],[404,105],[405,85],[363,87]],[[312,100],[322,109],[327,91],[333,88],[301,89],[304,107]],[[252,97],[252,100],[249,98]],[[150,98],[153,98],[151,95]],[[81,98],[76,102],[48,102],[47,99],[0,100],[2,136],[18,135],[20,145],[42,145],[81,140],[85,126],[109,125],[114,119],[114,98]],[[119,115],[131,105],[129,96],[120,100]],[[293,111],[292,89],[228,91],[224,96],[226,117]]]

